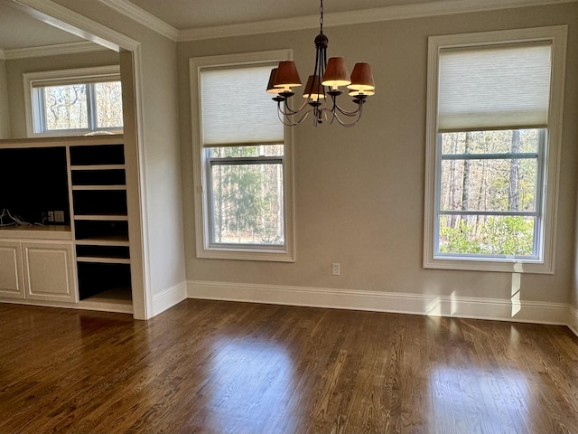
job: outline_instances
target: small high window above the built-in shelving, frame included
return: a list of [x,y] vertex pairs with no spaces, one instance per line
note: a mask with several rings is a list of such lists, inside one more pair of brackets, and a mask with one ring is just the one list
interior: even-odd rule
[[29,137],[122,133],[119,67],[24,74]]

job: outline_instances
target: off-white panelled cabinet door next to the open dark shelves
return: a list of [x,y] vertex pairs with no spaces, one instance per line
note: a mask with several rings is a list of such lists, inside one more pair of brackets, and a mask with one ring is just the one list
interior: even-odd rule
[[22,248],[26,298],[79,301],[71,242],[23,242]]

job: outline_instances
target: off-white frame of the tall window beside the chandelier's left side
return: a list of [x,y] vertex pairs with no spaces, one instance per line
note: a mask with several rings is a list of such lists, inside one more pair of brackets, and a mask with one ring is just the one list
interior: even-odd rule
[[[195,57],[189,59],[191,82],[191,128],[192,128],[192,165],[195,209],[195,237],[198,258],[203,259],[241,259],[294,262],[294,157],[293,131],[284,127],[284,156],[263,157],[266,159],[281,159],[283,165],[284,187],[284,245],[248,245],[211,243],[212,212],[210,195],[210,163],[213,158],[206,156],[206,149],[202,144],[202,125],[200,118],[200,73],[203,69],[215,68],[243,68],[247,66],[271,66],[275,68],[279,61],[291,60],[291,50],[276,50],[270,52],[249,52],[231,55]],[[264,84],[264,92],[266,83]],[[273,109],[275,103],[271,101]],[[239,146],[244,144],[239,143]],[[275,145],[263,143],[262,145]],[[235,144],[230,145],[235,146]],[[249,157],[250,160],[262,158]],[[264,161],[265,161],[264,160]],[[248,160],[247,160],[248,161]]]

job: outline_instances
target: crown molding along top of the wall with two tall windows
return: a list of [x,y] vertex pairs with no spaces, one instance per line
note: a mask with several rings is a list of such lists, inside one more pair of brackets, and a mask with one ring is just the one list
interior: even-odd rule
[[[576,3],[578,0],[439,0],[422,4],[394,5],[359,11],[325,14],[323,25],[333,27],[349,24],[367,24],[381,21],[422,18],[426,16],[466,14],[527,6]],[[177,42],[200,41],[249,34],[286,32],[314,29],[319,26],[319,15],[227,24],[179,31]]]

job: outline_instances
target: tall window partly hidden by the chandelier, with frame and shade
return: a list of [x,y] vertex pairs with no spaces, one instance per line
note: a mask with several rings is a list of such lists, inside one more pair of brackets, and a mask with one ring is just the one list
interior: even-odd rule
[[291,132],[266,93],[290,54],[190,61],[200,258],[294,260]]

